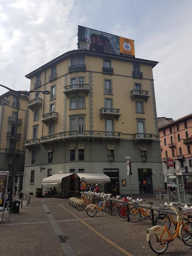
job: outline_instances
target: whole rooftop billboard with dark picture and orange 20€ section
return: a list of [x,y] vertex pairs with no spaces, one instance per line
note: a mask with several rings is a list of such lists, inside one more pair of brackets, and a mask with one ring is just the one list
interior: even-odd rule
[[134,40],[78,26],[78,49],[135,57]]

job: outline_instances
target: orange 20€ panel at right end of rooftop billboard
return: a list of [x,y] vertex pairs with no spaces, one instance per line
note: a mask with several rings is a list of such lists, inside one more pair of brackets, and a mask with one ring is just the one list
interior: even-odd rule
[[134,40],[119,37],[120,55],[135,56]]

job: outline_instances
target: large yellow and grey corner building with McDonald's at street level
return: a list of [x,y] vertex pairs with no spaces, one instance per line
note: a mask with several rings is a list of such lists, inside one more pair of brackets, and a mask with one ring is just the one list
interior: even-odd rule
[[101,189],[163,188],[153,67],[158,62],[73,50],[26,75],[30,94],[23,190],[57,173],[105,173]]

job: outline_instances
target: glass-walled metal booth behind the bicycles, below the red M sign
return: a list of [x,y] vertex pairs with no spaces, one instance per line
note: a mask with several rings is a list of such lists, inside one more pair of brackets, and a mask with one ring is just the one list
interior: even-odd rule
[[192,205],[192,173],[176,172],[166,176],[169,202]]

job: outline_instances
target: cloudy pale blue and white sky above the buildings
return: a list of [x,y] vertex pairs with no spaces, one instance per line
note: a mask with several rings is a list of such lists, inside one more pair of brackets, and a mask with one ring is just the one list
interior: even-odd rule
[[[82,25],[135,40],[153,69],[157,115],[192,113],[191,0],[6,0],[0,3],[0,84],[29,90],[25,75],[77,49]],[[6,89],[0,87],[0,94]]]

